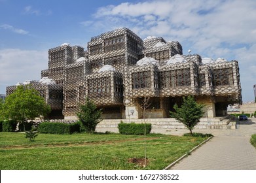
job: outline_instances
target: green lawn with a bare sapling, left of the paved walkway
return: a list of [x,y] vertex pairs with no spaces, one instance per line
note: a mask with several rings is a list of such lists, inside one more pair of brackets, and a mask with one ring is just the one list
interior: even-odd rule
[[149,165],[128,163],[143,158],[143,136],[120,134],[39,134],[30,142],[24,133],[0,133],[0,169],[92,170],[164,169],[207,137],[147,135]]

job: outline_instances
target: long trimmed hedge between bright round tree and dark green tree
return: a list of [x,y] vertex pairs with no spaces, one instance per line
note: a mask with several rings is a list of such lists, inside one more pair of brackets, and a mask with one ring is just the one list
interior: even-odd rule
[[63,124],[63,123],[51,123],[43,122],[39,124],[39,133],[52,133],[52,134],[72,134],[75,132],[80,132],[80,124]]

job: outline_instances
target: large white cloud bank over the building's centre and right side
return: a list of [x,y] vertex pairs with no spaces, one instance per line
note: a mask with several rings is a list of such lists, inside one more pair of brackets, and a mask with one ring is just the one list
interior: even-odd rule
[[99,8],[88,29],[103,33],[128,27],[142,39],[155,35],[166,41],[179,41],[184,54],[191,49],[202,57],[237,59],[244,82],[243,99],[249,101],[253,98],[253,79],[247,78],[256,73],[255,9],[255,0],[121,3]]

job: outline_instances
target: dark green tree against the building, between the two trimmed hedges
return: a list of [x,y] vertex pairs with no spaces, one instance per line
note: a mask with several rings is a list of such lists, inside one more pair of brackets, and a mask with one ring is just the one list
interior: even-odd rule
[[100,123],[101,109],[98,109],[93,101],[86,98],[84,105],[80,105],[80,111],[77,112],[77,118],[82,124],[84,130],[92,133],[96,129],[96,125]]

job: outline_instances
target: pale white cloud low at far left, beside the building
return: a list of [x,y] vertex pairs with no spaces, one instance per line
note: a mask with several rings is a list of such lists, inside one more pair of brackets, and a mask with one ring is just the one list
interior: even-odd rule
[[48,52],[37,50],[0,50],[0,93],[7,86],[25,80],[39,80],[41,70],[48,68]]

